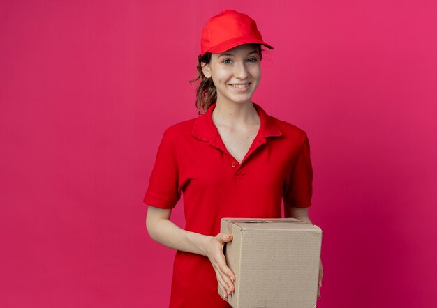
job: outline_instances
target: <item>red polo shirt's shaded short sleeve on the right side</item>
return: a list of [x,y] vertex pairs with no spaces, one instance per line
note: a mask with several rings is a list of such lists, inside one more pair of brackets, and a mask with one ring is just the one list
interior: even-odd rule
[[313,194],[313,167],[309,153],[309,140],[305,136],[304,144],[297,155],[290,174],[290,181],[284,191],[286,206],[308,208]]

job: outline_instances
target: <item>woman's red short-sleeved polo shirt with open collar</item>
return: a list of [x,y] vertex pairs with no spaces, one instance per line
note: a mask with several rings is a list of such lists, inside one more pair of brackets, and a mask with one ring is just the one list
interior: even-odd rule
[[[212,111],[165,130],[144,202],[173,208],[183,197],[186,230],[209,236],[222,217],[281,217],[285,206],[311,206],[313,171],[306,133],[253,104],[260,130],[239,164],[212,121]],[[237,277],[238,279],[238,277]],[[209,259],[177,252],[170,307],[230,307],[218,295]]]

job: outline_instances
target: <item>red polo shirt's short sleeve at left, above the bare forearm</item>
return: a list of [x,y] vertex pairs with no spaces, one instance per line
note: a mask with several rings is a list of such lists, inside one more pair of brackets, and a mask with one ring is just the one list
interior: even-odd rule
[[174,208],[181,196],[178,169],[172,134],[165,130],[151,171],[144,203],[156,208]]

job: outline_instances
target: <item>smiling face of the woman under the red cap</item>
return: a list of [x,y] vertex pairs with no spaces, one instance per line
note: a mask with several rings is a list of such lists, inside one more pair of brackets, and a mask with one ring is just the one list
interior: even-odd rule
[[251,102],[261,81],[258,45],[244,44],[221,54],[212,54],[202,70],[212,78],[217,89],[217,102]]

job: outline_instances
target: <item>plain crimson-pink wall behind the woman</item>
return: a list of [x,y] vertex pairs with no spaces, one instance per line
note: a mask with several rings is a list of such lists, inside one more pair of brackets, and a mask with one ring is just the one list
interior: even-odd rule
[[0,307],[168,305],[142,197],[224,8],[275,47],[254,101],[309,134],[318,307],[436,306],[436,2],[150,2],[1,2]]

